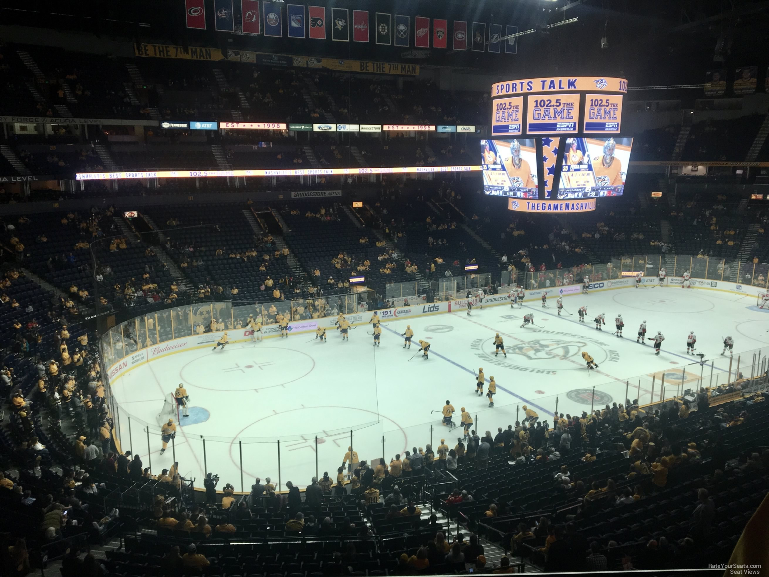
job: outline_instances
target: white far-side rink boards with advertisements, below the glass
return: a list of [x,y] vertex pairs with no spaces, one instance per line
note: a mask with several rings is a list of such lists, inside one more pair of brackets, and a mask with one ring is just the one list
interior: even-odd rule
[[[681,287],[684,279],[681,277],[667,277],[664,280],[662,286],[665,287]],[[697,290],[709,290],[717,292],[727,292],[733,295],[752,296],[757,297],[760,293],[766,292],[764,287],[756,287],[751,285],[741,285],[735,282],[727,281],[711,281],[704,278],[692,278],[691,288]],[[642,279],[642,285],[658,285],[659,279],[657,277],[647,276]],[[618,288],[631,288],[635,285],[635,278],[617,278],[611,281],[597,281],[591,282],[588,285],[588,292],[603,292],[617,290]],[[511,286],[511,288],[513,288]],[[533,291],[527,291],[524,302],[538,302],[542,298],[542,293],[548,292],[548,299],[557,298],[558,296],[574,296],[581,295],[582,285],[566,285],[566,286],[554,286],[551,288],[538,288]],[[470,299],[473,306],[478,306],[480,303],[478,299]],[[510,303],[510,297],[505,294],[499,295],[487,295],[483,299],[484,306],[500,306],[508,305]],[[382,322],[404,320],[404,319],[416,319],[422,316],[429,315],[441,315],[444,313],[464,311],[468,308],[468,299],[456,299],[445,302],[434,302],[426,305],[414,305],[414,306],[402,306],[394,309],[381,309],[378,310],[379,319]],[[350,315],[345,315],[345,319],[351,322],[352,326],[368,325],[368,319],[371,319],[373,312],[356,312]],[[332,329],[335,322],[335,317],[325,317],[324,319],[310,319],[304,321],[292,321],[288,323],[289,334],[302,335],[309,332],[315,332],[318,328],[318,324],[330,326],[327,329]],[[325,321],[325,322],[324,322]],[[228,329],[228,335],[230,336],[229,343],[237,342],[251,342],[251,335],[253,331],[248,328],[244,329]],[[280,335],[280,328],[278,325],[267,325],[261,329],[262,336],[265,339],[274,339]],[[191,351],[195,349],[203,349],[215,345],[218,342],[224,331],[218,332],[205,332],[202,335],[189,335],[185,337],[179,337],[178,339],[172,339],[170,341],[161,342],[158,345],[152,345],[145,349],[138,350],[131,355],[126,356],[118,362],[113,363],[107,371],[107,380],[111,385],[113,380],[120,379],[122,376],[135,369],[139,365],[144,365],[146,362],[161,359],[168,355],[174,355],[177,352]],[[235,338],[233,338],[233,335]]]

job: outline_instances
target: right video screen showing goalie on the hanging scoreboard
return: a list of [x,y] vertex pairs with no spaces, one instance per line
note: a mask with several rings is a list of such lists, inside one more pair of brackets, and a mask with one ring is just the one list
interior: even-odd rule
[[567,138],[558,198],[620,196],[633,138]]

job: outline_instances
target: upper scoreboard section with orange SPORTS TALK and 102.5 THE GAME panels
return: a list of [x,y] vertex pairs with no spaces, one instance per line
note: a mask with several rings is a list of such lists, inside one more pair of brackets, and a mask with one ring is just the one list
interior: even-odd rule
[[627,92],[627,80],[605,76],[496,82],[491,85],[491,135],[619,134]]

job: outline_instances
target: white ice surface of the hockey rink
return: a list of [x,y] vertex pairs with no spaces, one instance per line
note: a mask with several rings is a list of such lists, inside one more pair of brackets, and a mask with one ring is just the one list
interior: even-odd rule
[[[749,377],[751,370],[757,372],[751,367],[755,349],[769,352],[769,311],[757,309],[755,303],[754,296],[726,292],[623,288],[564,298],[572,315],[564,312],[561,317],[555,299],[548,298],[549,309],[530,302],[521,309],[474,307],[471,316],[462,310],[383,322],[379,347],[372,345],[371,325],[351,329],[349,342],[342,342],[328,319],[325,343],[305,333],[231,343],[216,352],[179,352],[140,365],[112,383],[120,405],[122,450],[138,453],[148,465],[147,432],[141,422],[151,423],[152,472],[170,467],[171,445],[159,454],[155,419],[164,395],[182,382],[191,409],[190,416],[181,419],[175,455],[182,474],[196,479],[195,486],[202,486],[205,462],[209,472],[221,477],[218,489],[229,482],[240,490],[241,460],[246,491],[255,476],[270,477],[277,485],[280,439],[281,489],[287,481],[303,488],[315,475],[316,457],[320,475],[328,471],[335,479],[351,430],[355,450],[368,462],[382,456],[389,462],[404,450],[431,442],[436,449],[441,439],[453,448],[461,427],[449,430],[441,424],[438,411],[446,399],[457,410],[454,422],[459,425],[459,410],[465,407],[481,435],[514,424],[517,414],[523,419],[523,405],[548,422],[556,398],[558,412],[589,412],[593,386],[595,408],[624,403],[628,381],[628,397],[644,404],[651,402],[652,382],[654,400],[659,399],[663,377],[665,398],[677,390],[696,389],[701,375],[704,385],[726,382],[730,357],[728,352],[721,355],[721,338],[727,335],[734,339],[732,377],[739,353],[748,351],[741,356],[740,371]],[[578,322],[581,305],[588,306],[584,324]],[[537,326],[521,329],[528,312],[534,313]],[[599,332],[593,319],[601,312],[606,325]],[[614,335],[618,313],[625,322],[624,339]],[[636,342],[644,320],[647,336],[658,330],[664,334],[659,356],[654,355],[653,342]],[[414,330],[411,349],[403,349],[406,325]],[[701,365],[699,358],[687,355],[689,331],[697,335],[697,352],[712,362]],[[504,339],[507,359],[494,356],[497,332]],[[431,343],[429,360],[416,354],[418,339]],[[588,371],[582,351],[594,357],[598,369]],[[474,372],[479,367],[487,385],[492,375],[497,382],[491,409],[485,395],[475,393]],[[131,415],[130,435],[126,414]]]

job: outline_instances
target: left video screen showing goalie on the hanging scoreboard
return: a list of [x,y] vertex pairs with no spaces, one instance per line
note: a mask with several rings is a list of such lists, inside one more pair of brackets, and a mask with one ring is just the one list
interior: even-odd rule
[[483,189],[487,195],[537,198],[534,138],[481,140]]

